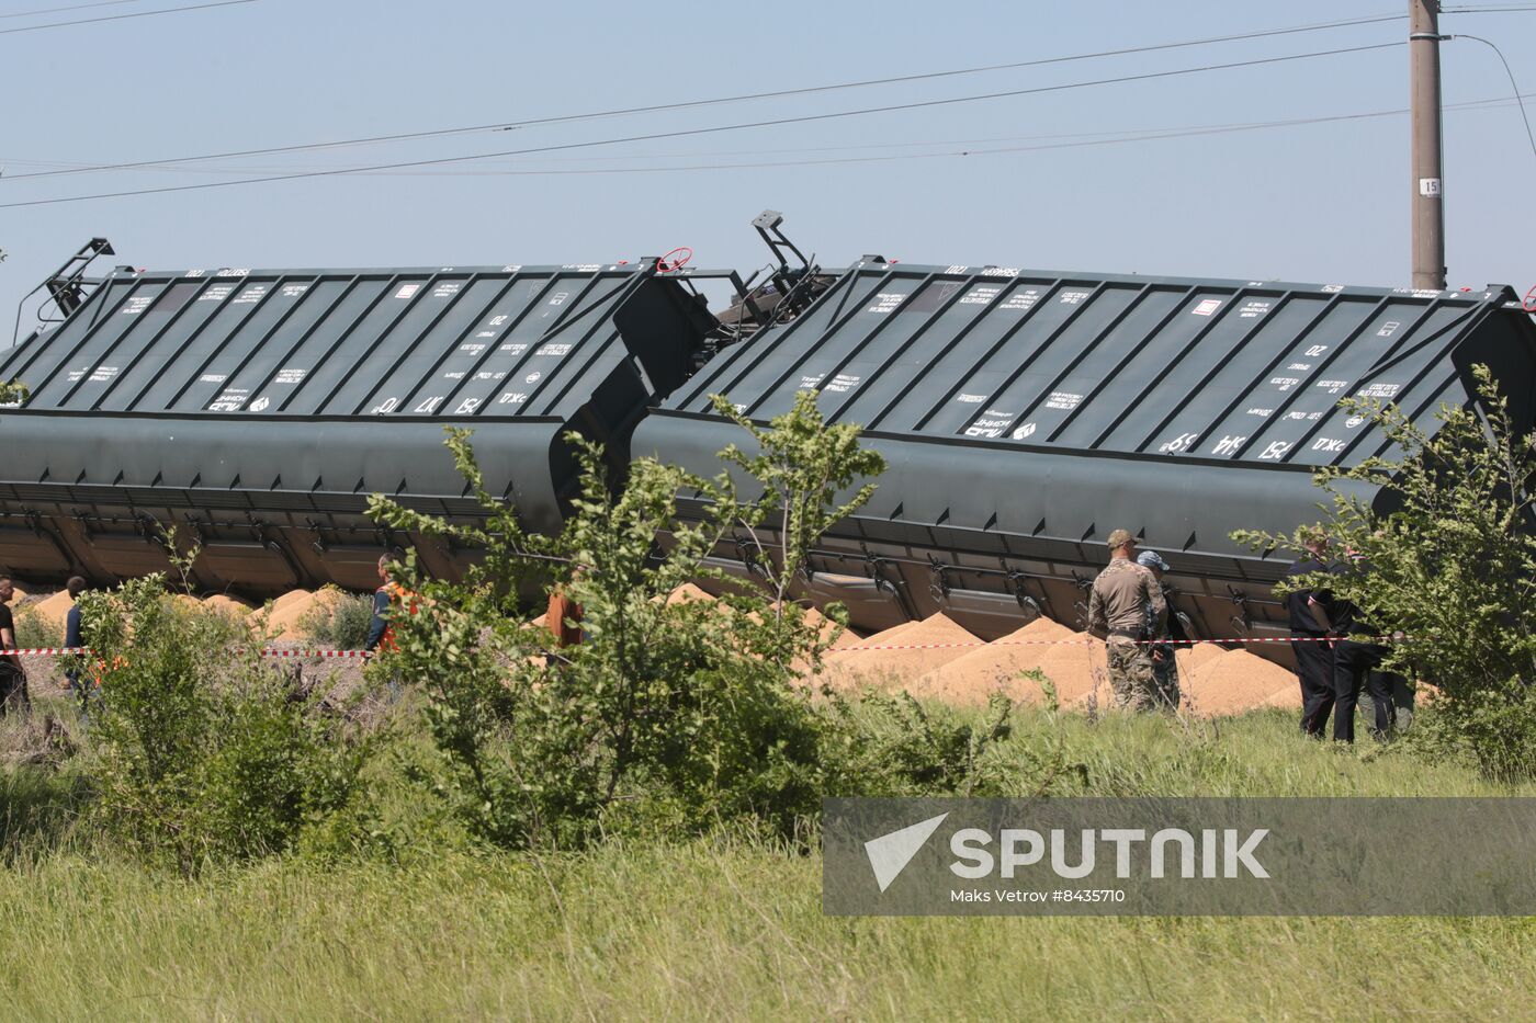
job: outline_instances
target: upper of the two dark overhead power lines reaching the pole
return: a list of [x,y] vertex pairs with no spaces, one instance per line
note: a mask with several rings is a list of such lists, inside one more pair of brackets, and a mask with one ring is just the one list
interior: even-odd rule
[[263,149],[238,149],[238,151],[230,151],[230,152],[198,154],[198,155],[192,155],[192,157],[174,157],[174,158],[161,158],[161,160],[138,160],[138,161],[127,161],[127,163],[84,164],[84,166],[66,167],[66,169],[60,169],[60,170],[38,170],[38,172],[34,172],[34,174],[17,174],[17,175],[8,177],[6,180],[8,181],[20,181],[20,180],[25,180],[25,178],[46,178],[46,177],[60,177],[60,175],[71,175],[71,174],[95,174],[95,172],[103,172],[103,170],[137,170],[137,169],[158,167],[158,166],[175,164],[175,163],[200,163],[200,161],[206,161],[206,160],[233,160],[233,158],[240,158],[240,157],[270,157],[270,155],[278,155],[278,154],[307,152],[307,151],[316,151],[316,149],[344,149],[344,147],[350,147],[350,146],[372,146],[372,144],[381,144],[381,143],[413,141],[413,140],[422,140],[422,138],[444,138],[444,137],[450,137],[450,135],[472,135],[472,134],[481,134],[481,132],[515,131],[515,129],[522,129],[522,127],[539,127],[539,126],[547,126],[547,124],[567,124],[567,123],[574,123],[574,121],[590,121],[590,120],[599,120],[599,118],[633,117],[633,115],[639,115],[639,114],[660,114],[660,112],[667,112],[667,111],[687,111],[687,109],[696,109],[696,108],[703,108],[703,106],[722,106],[722,104],[728,104],[728,103],[748,103],[748,101],[757,101],[757,100],[782,100],[782,98],[799,97],[799,95],[814,95],[814,94],[822,94],[822,92],[837,92],[837,91],[843,91],[843,89],[863,89],[863,88],[886,86],[886,84],[900,84],[900,83],[909,83],[909,81],[932,81],[932,80],[937,80],[937,78],[954,78],[954,77],[962,77],[962,75],[988,74],[988,72],[995,72],[995,71],[1020,71],[1020,69],[1025,69],[1025,68],[1044,68],[1044,66],[1049,66],[1049,65],[1063,65],[1063,63],[1074,63],[1074,61],[1083,61],[1083,60],[1098,60],[1098,58],[1104,58],[1104,57],[1126,57],[1126,55],[1132,55],[1132,54],[1149,54],[1149,52],[1170,51],[1170,49],[1187,49],[1187,48],[1192,48],[1192,46],[1212,46],[1212,45],[1217,45],[1217,43],[1235,43],[1235,41],[1255,40],[1255,38],[1270,38],[1270,37],[1275,37],[1275,35],[1295,35],[1295,34],[1299,34],[1299,32],[1318,32],[1318,31],[1338,29],[1338,28],[1353,28],[1353,26],[1359,26],[1359,25],[1378,25],[1378,23],[1382,23],[1382,22],[1401,22],[1404,17],[1407,17],[1407,15],[1404,15],[1404,14],[1366,15],[1366,17],[1358,17],[1358,18],[1346,18],[1346,20],[1339,20],[1339,22],[1319,22],[1319,23],[1312,23],[1312,25],[1293,25],[1293,26],[1289,26],[1289,28],[1275,28],[1275,29],[1260,29],[1260,31],[1253,31],[1253,32],[1240,32],[1236,35],[1210,35],[1210,37],[1203,37],[1203,38],[1180,40],[1180,41],[1174,41],[1174,43],[1154,43],[1154,45],[1149,45],[1149,46],[1130,46],[1130,48],[1124,48],[1124,49],[1106,49],[1106,51],[1097,51],[1097,52],[1089,52],[1089,54],[1071,54],[1071,55],[1064,55],[1064,57],[1043,57],[1043,58],[1037,58],[1037,60],[1023,60],[1023,61],[1015,61],[1015,63],[1008,63],[1008,65],[982,65],[982,66],[975,66],[975,68],[955,68],[955,69],[948,69],[948,71],[931,71],[931,72],[914,74],[914,75],[894,75],[894,77],[888,77],[888,78],[865,78],[865,80],[860,80],[860,81],[839,81],[839,83],[831,83],[831,84],[823,84],[823,86],[805,86],[805,88],[799,88],[799,89],[779,89],[779,91],[773,91],[773,92],[748,92],[748,94],[740,94],[740,95],[713,97],[713,98],[703,98],[703,100],[682,100],[682,101],[677,101],[677,103],[656,103],[656,104],[650,104],[650,106],[631,106],[631,108],[619,108],[619,109],[608,109],[608,111],[590,111],[590,112],[584,112],[584,114],[564,114],[564,115],[556,115],[556,117],[539,117],[539,118],[528,118],[528,120],[521,120],[521,121],[496,121],[496,123],[490,123],[490,124],[470,124],[470,126],[462,126],[462,127],[439,127],[439,129],[421,131],[421,132],[398,132],[398,134],[392,134],[392,135],[367,135],[367,137],[361,137],[361,138],[343,138],[343,140],[319,141],[319,143],[304,143],[304,144],[295,144],[295,146],[269,146],[269,147],[263,147]]

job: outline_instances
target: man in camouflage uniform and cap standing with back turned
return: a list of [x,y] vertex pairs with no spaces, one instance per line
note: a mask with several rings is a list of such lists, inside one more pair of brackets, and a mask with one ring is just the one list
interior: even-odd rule
[[1152,608],[1154,633],[1167,627],[1167,602],[1152,571],[1138,565],[1137,539],[1126,530],[1109,535],[1109,567],[1094,579],[1087,601],[1087,631],[1109,644],[1109,685],[1115,704],[1130,710],[1158,708],[1157,673],[1143,642],[1146,607]]

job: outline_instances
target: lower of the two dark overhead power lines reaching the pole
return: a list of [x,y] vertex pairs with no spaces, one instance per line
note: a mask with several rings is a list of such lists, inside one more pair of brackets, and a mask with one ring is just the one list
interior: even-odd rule
[[167,194],[167,192],[194,192],[194,190],[204,190],[204,189],[235,187],[235,186],[243,186],[243,184],[266,184],[266,183],[272,183],[272,181],[292,181],[292,180],[300,180],[300,178],[339,177],[339,175],[346,175],[346,174],[359,174],[359,172],[369,172],[369,170],[402,170],[402,169],[412,169],[412,167],[430,167],[430,166],[444,166],[444,164],[455,164],[455,163],[470,163],[470,161],[476,161],[476,160],[493,160],[493,158],[498,158],[498,157],[524,157],[524,155],[530,155],[530,154],[564,152],[564,151],[571,151],[571,149],[591,149],[591,147],[598,147],[598,146],[616,146],[616,144],[634,143],[634,141],[656,141],[656,140],[660,140],[660,138],[691,138],[691,137],[697,137],[697,135],[713,135],[713,134],[719,134],[719,132],[748,131],[748,129],[756,129],[756,127],[780,127],[783,124],[806,124],[806,123],[813,123],[813,121],[831,121],[831,120],[840,120],[840,118],[848,118],[848,117],[866,117],[866,115],[871,115],[871,114],[892,114],[892,112],[900,112],[900,111],[932,109],[932,108],[940,108],[940,106],[954,106],[954,104],[958,104],[958,103],[977,103],[977,101],[985,101],[985,100],[1015,98],[1015,97],[1023,97],[1023,95],[1041,95],[1041,94],[1048,94],[1048,92],[1064,92],[1064,91],[1069,91],[1069,89],[1086,89],[1086,88],[1094,88],[1094,86],[1126,84],[1126,83],[1132,83],[1132,81],[1154,81],[1154,80],[1160,80],[1160,78],[1174,78],[1174,77],[1180,77],[1180,75],[1207,74],[1207,72],[1212,72],[1212,71],[1232,71],[1232,69],[1238,69],[1238,68],[1258,68],[1258,66],[1266,66],[1266,65],[1290,63],[1290,61],[1296,61],[1296,60],[1312,60],[1312,58],[1318,58],[1318,57],[1338,57],[1338,55],[1344,55],[1344,54],[1362,54],[1362,52],[1379,51],[1379,49],[1395,49],[1395,48],[1404,46],[1404,45],[1405,43],[1395,41],[1395,43],[1375,43],[1375,45],[1370,45],[1370,46],[1347,46],[1347,48],[1341,48],[1341,49],[1313,51],[1313,52],[1307,52],[1307,54],[1286,54],[1283,57],[1261,57],[1261,58],[1240,60],[1240,61],[1232,61],[1232,63],[1224,63],[1224,65],[1203,65],[1203,66],[1198,66],[1198,68],[1178,68],[1178,69],[1174,69],[1174,71],[1154,71],[1154,72],[1144,72],[1144,74],[1138,74],[1138,75],[1120,75],[1120,77],[1115,77],[1115,78],[1097,78],[1097,80],[1092,80],[1092,81],[1072,81],[1072,83],[1064,83],[1064,84],[1034,86],[1034,88],[1029,88],[1029,89],[1008,89],[1008,91],[1003,91],[1003,92],[986,92],[986,94],[980,94],[980,95],[951,97],[951,98],[945,98],[945,100],[920,100],[920,101],[912,101],[912,103],[892,103],[892,104],[888,104],[888,106],[872,106],[872,108],[863,108],[863,109],[857,109],[857,111],[837,111],[837,112],[831,112],[831,114],[803,114],[803,115],[799,115],[799,117],[779,117],[779,118],[771,118],[771,120],[746,121],[746,123],[739,123],[739,124],[714,124],[714,126],[710,126],[710,127],[690,127],[690,129],[679,129],[679,131],[670,131],[670,132],[648,132],[648,134],[644,134],[644,135],[625,135],[625,137],[617,137],[617,138],[599,138],[599,140],[579,141],[579,143],[559,143],[559,144],[550,144],[550,146],[535,146],[535,147],[528,147],[528,149],[507,149],[507,151],[501,151],[501,152],[472,154],[472,155],[465,155],[465,157],[436,157],[436,158],[429,158],[429,160],[402,160],[402,161],[396,161],[396,163],[372,164],[372,166],[366,166],[366,167],[327,169],[327,170],[301,170],[301,172],[292,172],[292,174],[275,174],[275,175],[263,175],[263,177],[253,177],[253,178],[235,178],[235,180],[229,180],[229,181],[200,181],[197,184],[174,184],[174,186],[161,186],[161,187],[152,187],[152,189],[126,189],[126,190],[120,190],[120,192],[98,192],[98,194],[92,194],[92,195],[66,195],[66,197],[60,197],[60,198],[29,200],[29,201],[22,201],[22,203],[0,203],[0,209],[20,209],[20,207],[26,207],[26,206],[54,206],[54,204],[60,204],[60,203],[83,203],[83,201],[89,201],[89,200],[124,198],[124,197],[131,197],[131,195],[163,195],[163,194]]

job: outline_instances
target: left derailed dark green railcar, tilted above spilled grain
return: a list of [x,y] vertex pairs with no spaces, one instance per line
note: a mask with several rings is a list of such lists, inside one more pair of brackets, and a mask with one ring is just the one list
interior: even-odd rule
[[[98,246],[104,249],[104,243]],[[716,321],[644,264],[387,270],[120,267],[6,353],[31,389],[0,410],[0,565],[112,582],[166,570],[160,533],[203,548],[198,582],[246,596],[369,587],[415,545],[456,574],[473,551],[392,536],[370,493],[479,512],[442,449],[472,427],[487,485],[553,530],[576,485],[562,435],[614,472],[647,407],[691,372]]]

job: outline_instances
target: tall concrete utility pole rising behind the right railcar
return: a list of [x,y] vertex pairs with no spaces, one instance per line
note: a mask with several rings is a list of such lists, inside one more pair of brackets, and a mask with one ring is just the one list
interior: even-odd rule
[[1441,170],[1439,0],[1409,0],[1409,89],[1413,94],[1413,287],[1445,287],[1445,200]]

